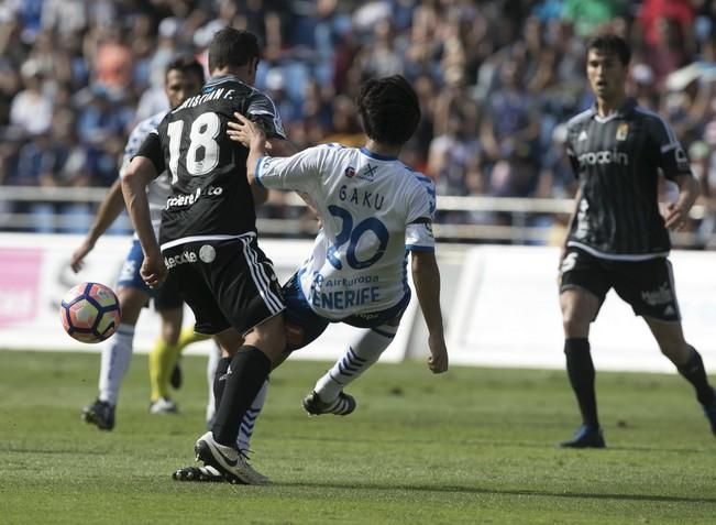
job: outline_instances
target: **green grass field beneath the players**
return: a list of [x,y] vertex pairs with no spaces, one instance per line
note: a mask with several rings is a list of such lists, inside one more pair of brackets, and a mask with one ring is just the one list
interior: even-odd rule
[[0,523],[714,524],[716,439],[678,376],[597,376],[608,449],[560,450],[577,424],[562,372],[375,367],[357,411],[308,418],[326,363],[275,372],[254,435],[268,486],[179,483],[203,430],[205,359],[177,416],[148,415],[146,358],[118,426],[79,419],[97,354],[0,351]]

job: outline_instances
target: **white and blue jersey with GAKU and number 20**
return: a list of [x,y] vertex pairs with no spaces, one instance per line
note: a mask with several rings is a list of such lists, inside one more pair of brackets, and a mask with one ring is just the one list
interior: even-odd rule
[[322,228],[298,275],[317,314],[340,320],[381,311],[410,293],[408,251],[434,251],[430,178],[395,157],[339,144],[265,156],[255,175],[267,188],[301,193],[318,211]]

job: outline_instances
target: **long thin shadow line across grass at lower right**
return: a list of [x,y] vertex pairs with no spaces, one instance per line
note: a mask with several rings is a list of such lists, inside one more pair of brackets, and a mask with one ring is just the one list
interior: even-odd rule
[[491,495],[517,495],[517,496],[547,496],[547,497],[565,497],[565,499],[588,499],[588,500],[617,500],[617,501],[649,501],[654,503],[716,503],[716,497],[685,497],[660,494],[609,494],[609,493],[583,493],[583,492],[555,492],[555,491],[536,491],[536,490],[509,490],[509,489],[483,489],[480,486],[458,486],[458,485],[401,485],[401,484],[379,484],[379,483],[301,483],[288,482],[278,483],[286,486],[306,486],[320,489],[373,489],[373,490],[406,490],[419,492],[450,492],[455,494],[491,494]]

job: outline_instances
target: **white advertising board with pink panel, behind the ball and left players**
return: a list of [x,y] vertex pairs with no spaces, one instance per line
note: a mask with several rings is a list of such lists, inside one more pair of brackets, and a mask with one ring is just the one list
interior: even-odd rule
[[[69,258],[79,245],[79,236],[0,233],[0,349],[99,351],[101,344],[85,344],[67,336],[59,321],[59,303],[75,284],[93,281],[113,287],[131,245],[129,237],[106,236],[87,256],[82,271],[75,274]],[[264,252],[273,260],[279,281],[289,277],[309,255],[310,241],[264,240]],[[405,357],[417,299],[411,300],[396,339],[381,357],[400,361]],[[194,322],[185,309],[185,326]],[[153,308],[140,316],[134,337],[137,352],[147,352],[158,336],[159,318]],[[332,324],[310,346],[295,352],[298,359],[334,360],[342,356],[355,329]],[[188,347],[186,353],[206,353],[210,341]]]

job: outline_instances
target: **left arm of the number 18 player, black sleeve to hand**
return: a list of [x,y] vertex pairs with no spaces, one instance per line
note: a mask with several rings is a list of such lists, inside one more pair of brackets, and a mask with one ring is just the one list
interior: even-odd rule
[[154,181],[158,173],[164,171],[164,157],[158,135],[148,134],[137,155],[132,158],[124,177],[122,177],[122,194],[136,236],[142,244],[144,262],[142,263],[142,278],[151,287],[157,287],[166,277],[166,266],[162,259],[159,244],[154,236],[150,215],[150,203],[146,197],[146,187]]

